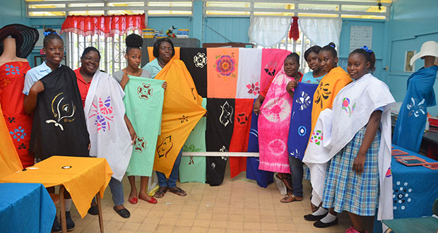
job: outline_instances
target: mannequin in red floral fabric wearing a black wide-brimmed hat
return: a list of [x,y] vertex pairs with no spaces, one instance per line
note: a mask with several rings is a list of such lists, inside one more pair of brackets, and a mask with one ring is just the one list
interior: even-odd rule
[[39,37],[35,28],[11,24],[0,29],[0,104],[23,167],[34,164],[29,152],[32,117],[25,113],[23,86],[30,70],[25,59],[32,52]]

